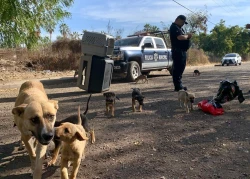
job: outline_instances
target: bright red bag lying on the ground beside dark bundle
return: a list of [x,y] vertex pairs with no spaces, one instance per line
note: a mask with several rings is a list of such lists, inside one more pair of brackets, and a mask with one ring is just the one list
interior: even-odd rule
[[221,115],[224,114],[224,109],[220,105],[213,100],[202,100],[198,103],[198,107],[203,111],[213,115]]

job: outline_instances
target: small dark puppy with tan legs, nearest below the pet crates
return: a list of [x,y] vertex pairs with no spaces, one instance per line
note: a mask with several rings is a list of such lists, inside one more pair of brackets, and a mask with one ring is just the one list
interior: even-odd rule
[[109,114],[111,111],[111,116],[115,116],[115,99],[120,100],[114,92],[103,93],[103,96],[106,97],[106,114]]

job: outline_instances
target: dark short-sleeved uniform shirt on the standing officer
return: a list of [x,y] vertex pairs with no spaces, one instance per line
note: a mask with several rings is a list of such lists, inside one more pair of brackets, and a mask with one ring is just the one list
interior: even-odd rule
[[184,50],[187,51],[190,47],[190,40],[178,40],[179,35],[185,35],[185,31],[177,24],[172,23],[170,26],[170,40],[172,50]]

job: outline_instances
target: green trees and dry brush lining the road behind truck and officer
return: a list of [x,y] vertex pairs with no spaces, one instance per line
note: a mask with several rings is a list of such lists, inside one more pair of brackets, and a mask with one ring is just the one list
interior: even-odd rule
[[[63,19],[70,17],[65,9],[73,0],[59,1],[14,1],[2,0],[0,6],[0,58],[8,58],[28,63],[34,70],[74,70],[81,56],[80,40],[82,33],[71,32]],[[31,10],[30,7],[33,7]],[[187,32],[195,32],[192,47],[188,51],[188,65],[219,63],[226,53],[239,53],[243,61],[250,58],[250,31],[245,27],[225,26],[221,20],[208,32],[209,15],[206,11],[186,14]],[[12,18],[16,17],[16,18]],[[46,20],[50,19],[50,20]],[[25,25],[24,25],[25,24]],[[171,24],[161,22],[161,27],[145,24],[141,30],[134,32],[168,31]],[[56,26],[60,36],[52,41]],[[41,37],[41,30],[48,32],[48,37]],[[123,37],[124,29],[114,29],[109,21],[106,33],[116,39]],[[168,47],[169,36],[166,35]]]

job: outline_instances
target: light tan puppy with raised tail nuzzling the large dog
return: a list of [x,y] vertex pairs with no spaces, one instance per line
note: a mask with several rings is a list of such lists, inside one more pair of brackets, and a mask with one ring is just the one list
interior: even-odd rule
[[70,179],[76,179],[81,159],[84,157],[86,140],[88,140],[82,126],[80,107],[78,108],[78,124],[62,123],[59,127],[55,128],[55,138],[62,141],[61,179],[69,178],[69,162],[73,164]]

